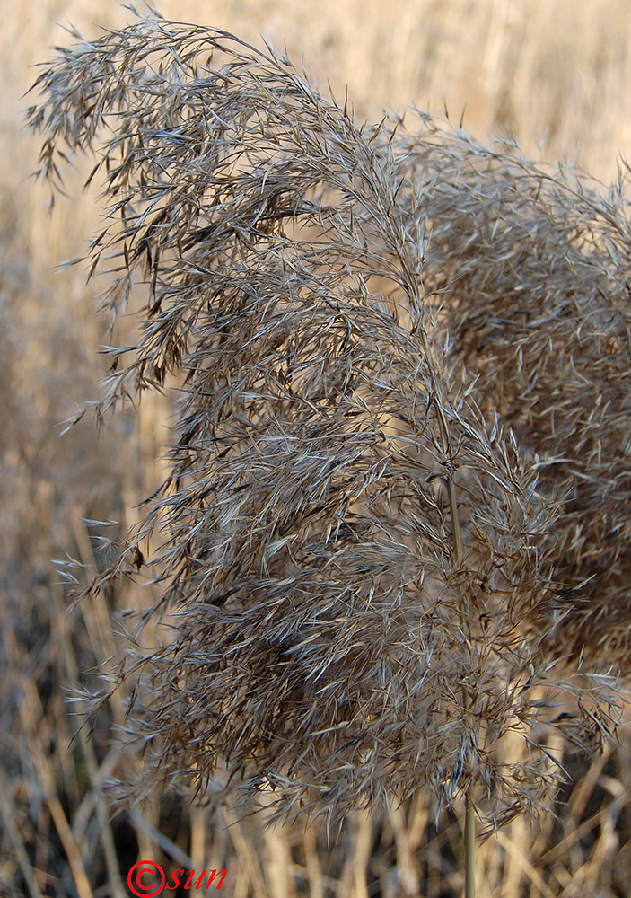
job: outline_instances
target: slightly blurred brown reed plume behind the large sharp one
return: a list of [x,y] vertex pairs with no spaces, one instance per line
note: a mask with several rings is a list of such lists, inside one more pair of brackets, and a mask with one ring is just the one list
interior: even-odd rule
[[[550,651],[631,670],[631,225],[627,167],[607,193],[551,177],[516,147],[459,132],[408,144],[433,227],[425,288],[454,355],[539,486],[563,497],[546,540]],[[510,152],[509,152],[510,150]]]

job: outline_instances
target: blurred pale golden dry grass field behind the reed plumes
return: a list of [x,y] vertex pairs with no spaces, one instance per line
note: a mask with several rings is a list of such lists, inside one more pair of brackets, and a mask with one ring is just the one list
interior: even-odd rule
[[[607,183],[631,136],[631,7],[625,0],[163,0],[161,12],[260,43],[264,33],[304,59],[320,86],[346,92],[359,118],[409,104],[483,138],[514,136],[534,159],[576,163]],[[434,829],[422,797],[387,822],[346,821],[334,844],[320,829],[264,831],[228,809],[191,809],[153,797],[153,812],[111,817],[101,784],[131,761],[113,738],[120,706],[92,740],[73,734],[76,682],[118,644],[116,613],[141,596],[96,594],[70,614],[52,559],[67,552],[101,564],[98,530],[82,519],[132,524],[160,477],[169,398],[148,401],[97,436],[89,415],[63,438],[58,423],[98,395],[105,328],[94,318],[100,285],[81,267],[98,201],[68,180],[68,201],[48,217],[48,195],[29,179],[38,144],[22,132],[22,94],[52,44],[118,27],[113,2],[9,4],[0,23],[0,894],[122,896],[137,858],[167,868],[226,867],[233,896],[367,898],[460,894],[459,825]],[[89,673],[92,672],[92,673]],[[481,895],[631,895],[631,741],[592,766],[569,759],[574,783],[557,819],[517,821],[486,841]],[[574,766],[572,766],[574,763]],[[227,826],[227,824],[232,824]],[[184,893],[182,893],[184,894]]]

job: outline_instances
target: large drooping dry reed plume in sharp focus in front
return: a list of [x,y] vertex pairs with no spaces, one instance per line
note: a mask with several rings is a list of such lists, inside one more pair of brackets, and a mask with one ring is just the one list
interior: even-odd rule
[[[180,377],[170,476],[108,575],[160,534],[150,620],[172,638],[131,716],[155,776],[249,806],[271,789],[288,817],[427,787],[477,796],[492,823],[544,806],[558,770],[539,723],[598,744],[613,692],[542,651],[559,499],[446,339],[439,290],[500,268],[490,249],[478,270],[472,243],[452,264],[475,210],[441,167],[488,202],[463,138],[360,127],[271,48],[157,14],[76,37],[37,82],[40,173],[58,185],[60,154],[95,152],[113,322],[145,283],[99,417]],[[516,165],[488,169],[512,184]],[[529,753],[500,761],[515,730]]]

